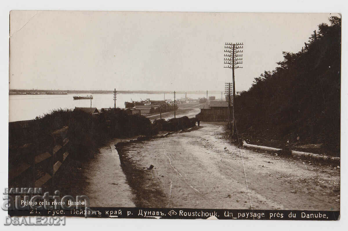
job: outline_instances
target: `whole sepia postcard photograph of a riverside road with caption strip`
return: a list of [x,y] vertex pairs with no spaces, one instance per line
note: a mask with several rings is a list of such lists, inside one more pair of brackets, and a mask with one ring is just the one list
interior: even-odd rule
[[340,219],[341,14],[9,19],[9,216]]

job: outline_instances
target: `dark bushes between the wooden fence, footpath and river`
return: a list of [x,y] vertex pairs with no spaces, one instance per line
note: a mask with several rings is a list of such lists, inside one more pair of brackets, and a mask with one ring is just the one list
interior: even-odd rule
[[150,137],[161,130],[181,130],[194,126],[192,119],[184,116],[169,121],[156,120],[152,124],[150,119],[141,115],[127,115],[120,108],[102,110],[98,115],[81,110],[57,109],[37,117],[25,130],[10,130],[9,149],[29,142],[34,143],[35,147],[47,146],[53,140],[50,132],[68,125],[71,154],[75,160],[83,161],[92,157],[105,140],[136,135]]

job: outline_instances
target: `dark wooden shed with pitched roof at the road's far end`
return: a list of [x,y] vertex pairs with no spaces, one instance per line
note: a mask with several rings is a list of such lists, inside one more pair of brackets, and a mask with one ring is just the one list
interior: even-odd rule
[[228,102],[210,101],[209,105],[201,105],[196,118],[200,121],[228,121]]

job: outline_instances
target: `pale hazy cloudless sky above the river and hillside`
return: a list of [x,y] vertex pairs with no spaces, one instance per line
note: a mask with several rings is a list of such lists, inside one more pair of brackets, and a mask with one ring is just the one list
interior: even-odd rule
[[243,42],[236,90],[297,52],[330,14],[11,11],[10,89],[223,90],[225,42]]

